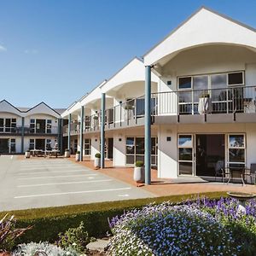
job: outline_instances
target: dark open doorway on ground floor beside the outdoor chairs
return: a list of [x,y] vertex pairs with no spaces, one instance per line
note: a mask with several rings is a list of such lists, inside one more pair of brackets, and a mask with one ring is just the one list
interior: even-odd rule
[[218,168],[224,166],[224,134],[195,135],[195,174],[215,177]]

